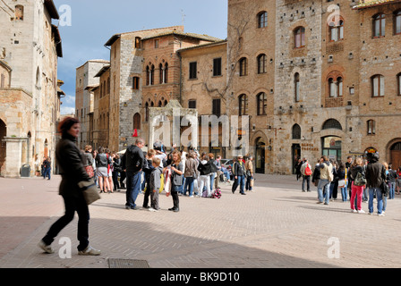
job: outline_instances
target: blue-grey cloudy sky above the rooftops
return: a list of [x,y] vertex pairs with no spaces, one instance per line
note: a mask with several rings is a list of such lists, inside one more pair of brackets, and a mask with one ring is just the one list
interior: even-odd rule
[[185,32],[225,39],[227,0],[54,0],[63,58],[58,79],[64,81],[61,114],[75,114],[76,68],[91,59],[109,60],[104,45],[113,35],[141,29],[183,25]]

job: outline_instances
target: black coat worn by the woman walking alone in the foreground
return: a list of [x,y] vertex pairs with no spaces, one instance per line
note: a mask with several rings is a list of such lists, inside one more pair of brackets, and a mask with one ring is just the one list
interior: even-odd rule
[[65,197],[83,198],[78,183],[90,181],[90,177],[84,168],[86,158],[75,145],[73,136],[63,135],[63,138],[58,141],[55,147],[55,158],[62,175],[59,194]]

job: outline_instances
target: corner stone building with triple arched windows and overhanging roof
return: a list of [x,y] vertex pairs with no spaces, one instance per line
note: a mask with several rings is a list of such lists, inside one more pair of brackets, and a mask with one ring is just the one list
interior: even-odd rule
[[[147,108],[164,106],[170,99],[179,100],[180,58],[176,52],[183,47],[216,40],[205,35],[184,33],[183,26],[175,26],[116,34],[107,41],[105,46],[111,49],[111,150],[131,145],[135,140],[132,137],[135,129],[139,137],[148,139]],[[163,80],[161,74],[166,66],[167,76]],[[134,83],[134,80],[137,81]]]

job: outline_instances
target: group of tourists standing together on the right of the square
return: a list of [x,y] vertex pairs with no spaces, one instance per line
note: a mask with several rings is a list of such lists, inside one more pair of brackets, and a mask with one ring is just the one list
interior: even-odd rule
[[383,216],[387,199],[394,199],[396,190],[399,194],[401,189],[401,167],[393,170],[391,164],[380,163],[379,160],[378,153],[369,153],[366,159],[348,156],[346,163],[321,156],[311,166],[308,159],[303,158],[295,166],[299,170],[296,179],[302,177],[302,191],[311,191],[311,182],[317,187],[318,204],[328,205],[330,199],[337,200],[340,189],[342,201],[350,202],[353,213],[365,213],[362,208],[365,201],[368,202],[369,214],[373,214],[373,199],[376,198],[377,214]]

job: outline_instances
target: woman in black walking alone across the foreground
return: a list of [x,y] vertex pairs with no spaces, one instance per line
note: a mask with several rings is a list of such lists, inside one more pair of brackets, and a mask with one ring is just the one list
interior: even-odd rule
[[90,181],[90,177],[84,168],[85,158],[75,145],[75,141],[80,133],[80,122],[73,117],[66,117],[58,125],[58,130],[62,134],[62,139],[55,147],[55,157],[60,167],[62,181],[60,183],[59,194],[64,198],[65,214],[59,218],[50,229],[46,236],[40,240],[38,247],[46,253],[54,253],[51,247],[57,234],[64,227],[73,221],[75,212],[78,213],[78,254],[84,256],[98,256],[100,251],[90,247],[89,241],[89,222],[90,211],[83,198],[82,191],[78,187],[80,181]]

